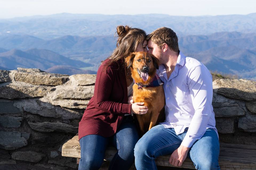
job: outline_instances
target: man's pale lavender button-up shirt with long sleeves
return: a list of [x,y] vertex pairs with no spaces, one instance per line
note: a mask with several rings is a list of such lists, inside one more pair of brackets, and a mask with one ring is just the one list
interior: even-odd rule
[[161,64],[157,74],[164,82],[165,128],[174,128],[176,134],[189,127],[181,145],[191,147],[206,129],[215,128],[213,112],[213,79],[201,62],[179,53],[175,69],[167,79],[165,65]]

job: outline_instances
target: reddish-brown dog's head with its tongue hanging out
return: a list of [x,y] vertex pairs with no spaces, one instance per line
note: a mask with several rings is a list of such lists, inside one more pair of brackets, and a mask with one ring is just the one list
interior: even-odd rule
[[[159,69],[159,60],[147,52],[134,52],[125,58],[127,68],[131,69],[131,76],[136,82],[147,84]],[[143,81],[141,81],[143,80]]]

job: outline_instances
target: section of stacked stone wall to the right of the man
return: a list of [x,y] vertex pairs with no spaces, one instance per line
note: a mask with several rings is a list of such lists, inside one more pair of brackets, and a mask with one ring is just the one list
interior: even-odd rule
[[218,79],[213,92],[220,141],[256,145],[256,82]]

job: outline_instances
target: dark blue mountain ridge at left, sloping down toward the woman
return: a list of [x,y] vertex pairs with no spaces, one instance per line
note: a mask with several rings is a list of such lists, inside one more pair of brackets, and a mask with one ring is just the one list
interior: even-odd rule
[[0,66],[11,70],[17,69],[17,67],[46,70],[55,65],[92,66],[82,61],[71,60],[49,50],[30,49],[24,52],[13,49],[0,53]]

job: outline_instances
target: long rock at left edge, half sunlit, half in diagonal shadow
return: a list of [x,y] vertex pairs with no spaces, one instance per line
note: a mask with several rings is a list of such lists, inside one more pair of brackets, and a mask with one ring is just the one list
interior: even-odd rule
[[22,99],[27,97],[43,97],[53,87],[33,85],[25,82],[11,81],[0,85],[0,98]]

